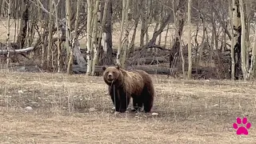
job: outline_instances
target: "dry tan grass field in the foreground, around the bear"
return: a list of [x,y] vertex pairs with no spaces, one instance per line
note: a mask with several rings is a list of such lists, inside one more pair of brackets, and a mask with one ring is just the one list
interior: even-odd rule
[[[253,82],[152,75],[150,114],[117,114],[102,77],[0,71],[0,143],[254,143]],[[26,106],[33,107],[26,111]],[[90,112],[90,108],[97,109]],[[238,136],[236,117],[252,123]]]

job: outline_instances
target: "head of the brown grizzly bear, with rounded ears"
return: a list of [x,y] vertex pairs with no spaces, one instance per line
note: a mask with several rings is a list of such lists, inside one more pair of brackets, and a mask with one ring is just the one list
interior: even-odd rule
[[102,66],[102,70],[103,70],[104,81],[107,84],[115,82],[116,80],[118,80],[118,78],[121,75],[121,71],[120,71],[119,66],[110,66],[110,67],[107,67],[107,68],[106,68],[106,66]]

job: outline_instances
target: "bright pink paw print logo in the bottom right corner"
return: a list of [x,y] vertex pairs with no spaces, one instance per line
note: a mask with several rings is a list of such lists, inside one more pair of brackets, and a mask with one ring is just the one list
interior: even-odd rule
[[[238,126],[240,124],[243,124],[244,126]],[[237,130],[237,134],[238,135],[241,135],[241,134],[245,134],[247,135],[248,134],[248,129],[250,129],[250,122],[247,122],[247,118],[237,118],[237,122],[236,123],[233,123],[233,127],[235,130]]]

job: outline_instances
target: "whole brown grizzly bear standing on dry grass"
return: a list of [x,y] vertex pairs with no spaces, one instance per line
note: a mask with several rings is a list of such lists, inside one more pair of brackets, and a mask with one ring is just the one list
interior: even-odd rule
[[151,111],[154,102],[154,85],[150,74],[143,70],[124,70],[119,66],[102,66],[103,78],[108,85],[115,111],[124,113],[133,98],[134,110]]

